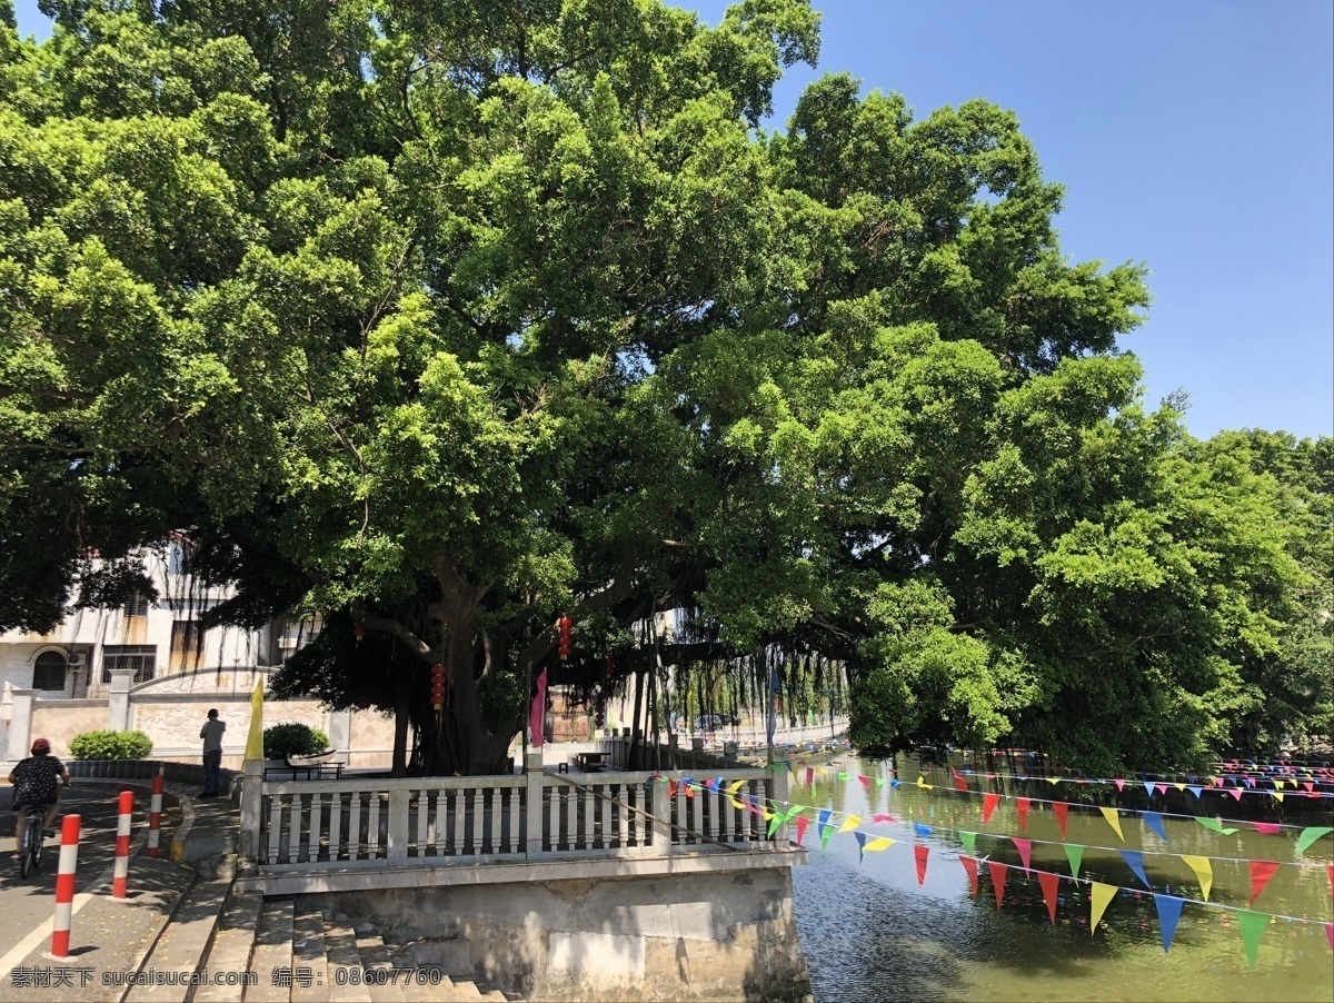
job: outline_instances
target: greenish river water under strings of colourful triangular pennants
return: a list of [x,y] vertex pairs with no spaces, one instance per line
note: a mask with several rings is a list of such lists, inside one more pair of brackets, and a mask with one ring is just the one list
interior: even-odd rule
[[[1241,826],[1234,835],[1219,835],[1191,819],[1167,818],[1163,824],[1170,842],[1165,843],[1143,827],[1138,816],[1122,814],[1122,843],[1097,808],[1073,807],[1067,842],[1087,847],[1081,876],[1127,890],[1139,888],[1118,892],[1090,936],[1090,886],[1061,880],[1062,899],[1053,927],[1037,876],[1025,876],[1018,851],[1007,840],[986,835],[976,840],[979,858],[990,855],[1015,864],[1009,871],[1002,908],[996,908],[986,864],[980,866],[978,898],[975,902],[970,898],[968,879],[958,859],[962,847],[955,831],[959,830],[1026,836],[1034,840],[1034,870],[1070,874],[1059,844],[1061,831],[1047,806],[1033,804],[1027,831],[1022,832],[1013,802],[1002,800],[991,820],[983,823],[980,795],[964,795],[940,786],[920,788],[915,786],[916,764],[904,758],[898,760],[902,786],[891,788],[886,782],[870,790],[863,788],[855,775],[887,778],[884,760],[826,754],[808,756],[806,762],[823,767],[824,775],[816,776],[812,787],[806,787],[804,771],[798,767],[798,783],[790,794],[794,803],[862,815],[858,828],[896,840],[883,852],[866,854],[859,862],[852,832],[834,835],[822,852],[815,826],[806,831],[810,864],[794,868],[792,882],[796,927],[816,1003],[1334,999],[1334,951],[1319,923],[1271,920],[1253,971],[1242,950],[1238,914],[1187,903],[1171,951],[1163,954],[1153,896],[1117,852],[1121,847],[1145,851],[1145,871],[1153,888],[1187,899],[1202,898],[1199,884],[1174,855],[1214,858],[1210,900],[1242,908],[1250,903],[1249,866],[1217,858],[1319,863],[1319,867],[1279,867],[1253,908],[1329,922],[1334,920],[1334,904],[1323,864],[1330,860],[1334,836],[1325,836],[1297,858],[1298,830],[1266,835]],[[838,771],[851,779],[838,780]],[[940,772],[928,770],[927,779],[948,784]],[[984,782],[970,779],[974,788],[980,783]],[[1089,796],[1081,791],[1091,790],[1030,783],[1018,792],[1035,799],[1074,800]],[[1230,798],[1206,794],[1195,807],[1189,794],[1171,794],[1175,798],[1155,798],[1153,808],[1253,818],[1239,815],[1242,808]],[[1127,790],[1118,802],[1125,807],[1145,807],[1143,798],[1139,794],[1135,800]],[[1229,806],[1237,810],[1229,811]],[[1334,824],[1330,812],[1303,810],[1298,815],[1290,803],[1287,808],[1277,804],[1274,808],[1263,820]],[[892,815],[894,822],[870,824],[872,815],[879,812]],[[835,815],[834,820],[840,824],[843,816]],[[932,832],[914,835],[914,823],[932,826]],[[930,847],[926,879],[920,886],[914,843]],[[1154,856],[1149,851],[1171,855]]]

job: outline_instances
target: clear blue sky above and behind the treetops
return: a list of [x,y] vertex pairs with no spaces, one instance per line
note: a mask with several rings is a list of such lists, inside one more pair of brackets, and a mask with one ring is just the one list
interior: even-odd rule
[[[716,23],[726,0],[682,0]],[[820,67],[919,116],[1013,108],[1077,260],[1146,261],[1154,304],[1123,339],[1147,399],[1189,392],[1198,436],[1334,432],[1334,4],[1329,0],[816,0]],[[48,33],[36,0],[20,31]]]

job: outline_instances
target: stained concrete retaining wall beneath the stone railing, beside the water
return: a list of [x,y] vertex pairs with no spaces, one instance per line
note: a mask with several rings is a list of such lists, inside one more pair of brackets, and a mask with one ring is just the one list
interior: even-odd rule
[[530,999],[798,1000],[810,994],[786,866],[309,898],[372,922],[386,942],[420,940],[410,950],[422,964]]

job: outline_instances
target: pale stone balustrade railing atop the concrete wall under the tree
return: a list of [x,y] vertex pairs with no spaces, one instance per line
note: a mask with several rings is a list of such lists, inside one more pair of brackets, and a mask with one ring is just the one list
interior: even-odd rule
[[[766,799],[786,800],[787,771],[735,768],[736,791],[710,778],[651,772],[523,776],[243,780],[244,863],[259,871],[450,867],[560,858],[662,858],[706,848],[786,846],[767,835]],[[736,807],[740,804],[742,807]]]

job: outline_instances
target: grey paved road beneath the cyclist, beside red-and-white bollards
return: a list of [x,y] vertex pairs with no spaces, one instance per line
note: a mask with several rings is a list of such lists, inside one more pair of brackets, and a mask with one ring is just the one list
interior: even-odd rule
[[[83,816],[79,840],[79,878],[75,891],[83,891],[89,882],[111,867],[116,855],[116,798],[119,788],[111,784],[81,784],[75,780],[69,788],[64,810]],[[11,794],[0,787],[0,956],[23,940],[33,927],[49,923],[55,907],[56,858],[59,856],[60,819],[56,819],[56,838],[47,840],[47,854],[41,871],[19,879],[19,866],[13,860],[15,815]],[[136,798],[136,822],[147,804]],[[164,840],[165,843],[165,840]]]

